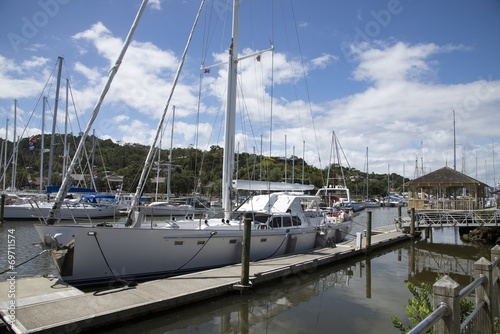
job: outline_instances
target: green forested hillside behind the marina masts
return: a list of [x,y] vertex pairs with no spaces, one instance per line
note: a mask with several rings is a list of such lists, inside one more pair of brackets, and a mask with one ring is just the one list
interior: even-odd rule
[[[33,150],[29,149],[29,141],[32,141]],[[69,143],[69,157],[72,157],[80,137],[68,135],[67,142]],[[41,138],[36,137],[23,138],[19,143],[19,154],[17,158],[16,171],[16,188],[17,189],[32,189],[36,190],[35,178],[40,176],[40,161],[41,161]],[[51,135],[45,135],[44,146],[47,150],[51,142]],[[56,145],[53,152],[53,172],[51,175],[52,184],[61,183],[61,173],[64,160],[64,144],[63,138],[57,135],[55,138]],[[3,143],[2,143],[3,144]],[[8,142],[8,158],[12,154],[12,142]],[[4,146],[2,145],[2,148]],[[111,140],[100,140],[89,136],[86,141],[85,159],[82,159],[76,170],[78,174],[84,174],[87,184],[80,186],[90,187],[91,166],[94,166],[93,171],[97,172],[95,185],[97,191],[109,192],[116,190],[116,184],[110,189],[106,180],[106,175],[123,176],[123,190],[125,192],[134,192],[137,187],[137,182],[143,168],[144,160],[148,153],[149,147],[139,144],[118,144]],[[4,149],[2,149],[2,153]],[[169,150],[162,150],[160,154],[160,176],[167,176],[169,164]],[[208,151],[202,151],[193,147],[189,148],[174,148],[172,150],[172,174],[171,174],[171,192],[176,196],[192,194],[199,191],[202,195],[215,195],[221,193],[222,179],[222,157],[223,149],[219,146],[212,146]],[[49,153],[44,153],[43,158],[44,176],[47,177],[49,166]],[[3,155],[2,155],[3,161]],[[151,179],[157,175],[157,161],[149,175],[149,181],[146,185],[146,192],[152,193],[156,191],[156,185],[151,182]],[[68,160],[68,163],[70,160]],[[285,168],[286,162],[286,168]],[[2,164],[3,167],[3,164]],[[328,175],[328,166],[319,169],[315,166],[308,165],[301,158],[283,157],[261,157],[258,155],[242,153],[236,157],[235,168],[238,169],[237,177],[239,179],[250,180],[269,180],[284,182],[285,176],[287,182],[314,184],[316,187],[321,187],[326,184]],[[3,168],[2,168],[3,170]],[[354,168],[343,166],[343,172],[346,179],[346,184],[351,190],[351,194],[362,198],[366,195],[366,175],[363,171]],[[12,178],[12,163],[8,166],[6,174],[6,187],[10,186]],[[341,175],[340,168],[330,170],[330,178],[332,175],[339,178]],[[294,176],[294,180],[292,180]],[[401,191],[403,178],[397,174],[388,175],[371,173],[369,179],[369,195],[371,197],[382,197],[387,195],[388,184],[396,191]],[[29,180],[32,180],[30,183]],[[338,180],[337,180],[338,182]],[[330,184],[332,180],[330,180]],[[199,187],[198,187],[199,185]],[[159,192],[166,193],[166,182],[161,183]]]

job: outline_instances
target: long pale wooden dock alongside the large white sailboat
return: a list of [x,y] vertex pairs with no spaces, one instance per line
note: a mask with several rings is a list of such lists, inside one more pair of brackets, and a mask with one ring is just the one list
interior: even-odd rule
[[[373,230],[370,249],[408,240],[394,225]],[[366,238],[363,238],[365,243]],[[301,271],[362,255],[356,240],[301,254],[250,263],[252,286],[299,274]],[[16,282],[16,308],[8,309],[9,282],[0,282],[0,315],[13,333],[67,333],[112,325],[133,317],[193,304],[240,290],[241,265],[83,293],[57,279],[44,277]],[[10,311],[10,312],[9,312]],[[12,321],[13,320],[13,321]],[[1,331],[1,328],[0,328]]]

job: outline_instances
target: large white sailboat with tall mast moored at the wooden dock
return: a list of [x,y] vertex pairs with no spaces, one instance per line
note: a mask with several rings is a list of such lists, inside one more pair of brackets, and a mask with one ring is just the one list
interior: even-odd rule
[[[140,17],[141,11],[144,10],[145,3],[147,0],[143,1],[136,21]],[[203,2],[201,6],[203,6]],[[236,212],[231,210],[238,15],[239,1],[235,0],[233,4],[233,38],[229,48],[228,61],[228,103],[223,175],[224,217],[142,224],[143,212],[135,210],[135,206],[142,191],[140,184],[146,178],[144,173],[136,191],[135,205],[128,214],[125,226],[117,224],[57,224],[58,208],[54,206],[52,219],[48,221],[48,224],[40,224],[35,227],[43,243],[51,247],[52,259],[66,282],[73,285],[92,285],[122,280],[151,279],[238,263],[241,260],[245,218],[251,219],[249,256],[251,261],[287,253],[303,252],[315,247],[325,247],[340,241],[350,231],[350,223],[338,224],[326,220],[318,209],[318,205],[312,205],[307,209],[307,203],[319,199],[317,196],[303,193],[311,186],[300,186],[297,191],[283,190],[289,189],[290,185],[281,183],[253,184],[244,182],[247,184],[239,186],[235,184],[238,187],[252,190],[263,187],[266,190],[281,191],[253,196]],[[197,19],[195,25],[196,21]],[[131,33],[133,30],[134,28],[131,29]],[[131,33],[127,38],[128,41]],[[124,49],[126,49],[126,45],[127,43]],[[186,50],[187,47],[182,59],[184,59]],[[123,53],[124,51],[122,51]],[[119,64],[118,61],[117,64]],[[173,87],[175,87],[181,67],[182,61]],[[112,75],[114,75],[113,72],[110,76]],[[104,95],[105,91],[103,91]],[[103,95],[99,101],[102,102],[102,98]],[[164,112],[167,108],[168,102]],[[160,121],[159,129],[161,129],[163,118]],[[155,144],[156,139],[153,146]],[[148,163],[151,163],[149,155],[146,159],[146,166]],[[146,167],[144,170],[148,170],[148,168]],[[61,187],[61,191],[58,198],[64,195],[64,185]]]

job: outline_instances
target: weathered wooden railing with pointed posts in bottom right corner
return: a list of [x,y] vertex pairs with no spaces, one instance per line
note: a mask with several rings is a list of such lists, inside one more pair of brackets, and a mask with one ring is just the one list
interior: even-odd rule
[[[495,318],[499,318],[500,246],[491,250],[493,262],[484,257],[474,263],[474,282],[459,290],[460,285],[449,276],[437,281],[432,289],[434,309],[410,332],[426,333],[434,327],[434,334],[495,333]],[[474,311],[460,323],[460,300],[475,294]]]

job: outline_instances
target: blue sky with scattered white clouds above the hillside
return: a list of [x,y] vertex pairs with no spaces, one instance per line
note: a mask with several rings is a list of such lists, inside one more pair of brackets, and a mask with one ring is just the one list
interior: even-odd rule
[[[138,0],[0,1],[0,137],[84,129]],[[93,124],[150,145],[201,1],[150,1]],[[161,145],[223,146],[232,1],[207,0],[167,108]],[[260,54],[256,53],[273,48]],[[498,0],[250,1],[240,5],[239,152],[295,155],[413,179],[441,167],[493,185],[500,157]],[[208,71],[201,68],[210,67]],[[7,119],[9,120],[7,122]],[[6,127],[8,126],[8,131]],[[455,145],[454,145],[455,143]],[[367,164],[368,162],[368,164]]]

